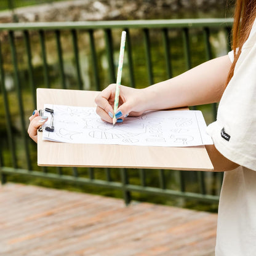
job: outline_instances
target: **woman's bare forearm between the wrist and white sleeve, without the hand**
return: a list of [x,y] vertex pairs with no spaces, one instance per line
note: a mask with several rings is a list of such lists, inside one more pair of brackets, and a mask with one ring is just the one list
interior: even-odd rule
[[225,55],[143,89],[147,110],[218,102],[225,90],[230,66],[230,58]]

